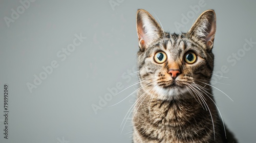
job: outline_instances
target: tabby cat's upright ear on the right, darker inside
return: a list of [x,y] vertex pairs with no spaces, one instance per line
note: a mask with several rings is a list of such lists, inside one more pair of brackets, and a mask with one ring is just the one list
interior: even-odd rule
[[206,10],[203,12],[188,33],[202,40],[206,48],[211,50],[214,45],[216,33],[216,14],[214,10]]

